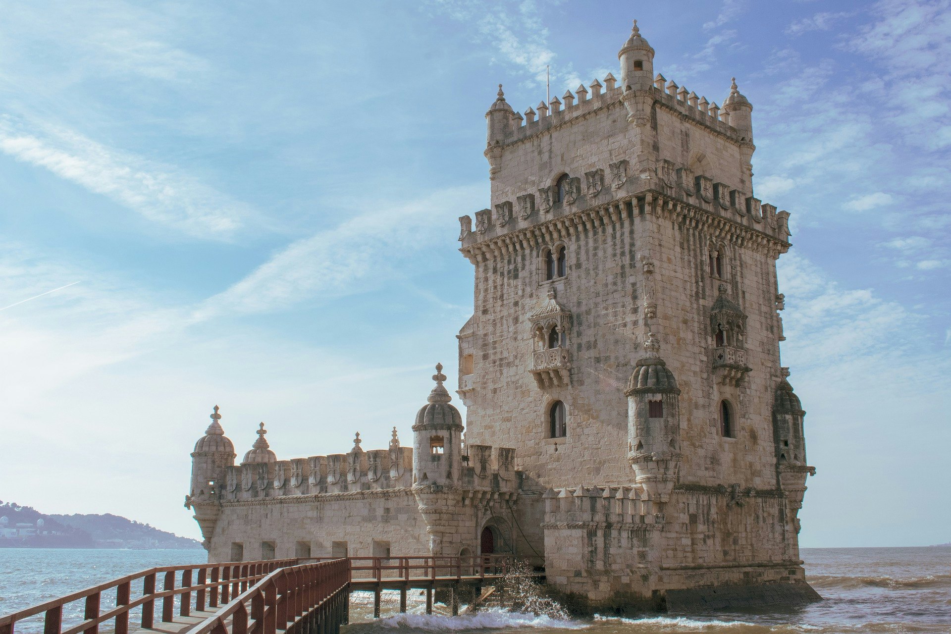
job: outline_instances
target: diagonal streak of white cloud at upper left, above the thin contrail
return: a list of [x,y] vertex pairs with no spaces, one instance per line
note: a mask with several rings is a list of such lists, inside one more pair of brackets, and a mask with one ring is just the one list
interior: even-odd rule
[[247,205],[174,166],[96,143],[63,127],[0,117],[0,151],[196,238],[226,240],[252,216]]

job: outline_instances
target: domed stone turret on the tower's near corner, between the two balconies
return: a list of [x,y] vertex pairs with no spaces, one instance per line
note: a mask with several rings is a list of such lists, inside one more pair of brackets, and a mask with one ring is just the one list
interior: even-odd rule
[[680,470],[680,388],[652,333],[628,389],[628,462],[650,500],[667,502]]

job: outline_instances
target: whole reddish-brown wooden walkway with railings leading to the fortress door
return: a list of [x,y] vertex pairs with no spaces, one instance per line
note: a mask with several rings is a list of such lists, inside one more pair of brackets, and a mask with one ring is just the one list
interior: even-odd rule
[[18,634],[18,623],[40,615],[43,634],[335,634],[349,620],[352,591],[373,592],[378,617],[383,590],[398,590],[405,612],[407,592],[422,589],[431,614],[434,591],[449,588],[455,615],[460,588],[499,586],[513,564],[511,555],[486,555],[155,567],[2,616],[0,634]]

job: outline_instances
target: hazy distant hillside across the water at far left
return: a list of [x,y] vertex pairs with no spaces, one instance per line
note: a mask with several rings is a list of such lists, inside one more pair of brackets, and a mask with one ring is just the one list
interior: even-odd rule
[[0,548],[201,548],[194,539],[106,513],[44,514],[0,503]]

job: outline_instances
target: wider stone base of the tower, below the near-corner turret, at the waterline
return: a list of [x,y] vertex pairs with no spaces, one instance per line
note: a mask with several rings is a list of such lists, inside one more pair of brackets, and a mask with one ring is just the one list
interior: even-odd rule
[[679,486],[664,504],[643,488],[545,494],[546,578],[577,613],[696,612],[821,599],[805,583],[776,490]]

